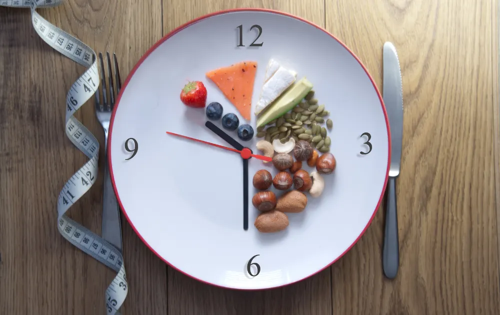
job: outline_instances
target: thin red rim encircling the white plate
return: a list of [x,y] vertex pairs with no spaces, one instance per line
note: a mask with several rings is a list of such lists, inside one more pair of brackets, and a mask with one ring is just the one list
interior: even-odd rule
[[328,268],[329,266],[331,266],[334,262],[336,262],[338,259],[340,259],[345,253],[347,253],[356,243],[357,241],[361,238],[361,236],[364,234],[364,232],[368,229],[368,227],[370,226],[371,222],[373,221],[373,218],[375,217],[375,214],[376,212],[378,211],[378,208],[380,207],[380,203],[382,202],[382,198],[383,198],[383,195],[385,193],[385,188],[387,186],[387,179],[389,177],[389,168],[390,168],[390,128],[389,128],[389,121],[388,121],[388,117],[387,117],[387,112],[385,110],[385,105],[383,103],[383,99],[382,99],[382,96],[380,95],[380,91],[378,90],[378,88],[376,87],[376,84],[375,82],[373,81],[373,78],[371,77],[371,75],[368,73],[368,70],[366,70],[366,67],[363,65],[363,63],[361,62],[361,60],[343,43],[341,42],[340,40],[338,40],[335,36],[333,36],[331,33],[329,33],[328,31],[326,31],[324,28],[310,22],[310,21],[307,21],[301,17],[298,17],[298,16],[295,16],[293,14],[289,14],[289,13],[285,13],[285,12],[281,12],[281,11],[277,11],[277,10],[272,10],[272,9],[264,9],[264,8],[235,8],[235,9],[227,9],[227,10],[221,10],[221,11],[216,11],[216,12],[212,12],[212,13],[208,13],[208,14],[205,14],[205,15],[202,15],[202,16],[199,16],[187,23],[184,23],[180,26],[178,26],[177,28],[173,29],[172,31],[170,31],[168,34],[166,34],[165,36],[163,36],[161,39],[159,39],[158,41],[156,41],[156,43],[154,43],[154,45],[152,45],[139,59],[139,61],[134,65],[134,67],[132,68],[132,70],[130,71],[130,73],[128,73],[122,87],[121,87],[121,90],[119,92],[119,94],[117,95],[117,98],[116,98],[116,104],[113,108],[113,111],[112,111],[112,114],[111,114],[111,122],[109,124],[109,138],[108,138],[108,143],[107,143],[107,147],[111,147],[111,139],[112,139],[112,132],[113,132],[113,123],[114,123],[114,115],[116,113],[116,109],[118,109],[118,105],[120,103],[120,99],[121,99],[121,95],[123,94],[123,91],[125,90],[127,84],[128,84],[128,81],[131,79],[131,77],[133,76],[133,74],[135,73],[135,71],[137,70],[137,68],[140,66],[140,64],[144,61],[145,58],[147,58],[147,56],[149,56],[149,54],[154,51],[154,49],[156,49],[156,47],[158,47],[160,44],[162,44],[165,40],[167,40],[169,37],[171,37],[172,35],[174,35],[175,33],[179,32],[180,30],[196,23],[196,22],[199,22],[200,20],[203,20],[205,18],[208,18],[208,17],[211,17],[211,16],[215,16],[215,15],[220,15],[220,14],[224,14],[224,13],[231,13],[231,12],[240,12],[240,11],[259,11],[259,12],[268,12],[268,13],[275,13],[275,14],[280,14],[280,15],[284,15],[284,16],[288,16],[288,17],[291,17],[291,18],[295,18],[297,20],[300,20],[302,22],[305,22],[309,25],[312,25],[314,27],[316,27],[317,29],[325,32],[326,34],[330,35],[333,39],[335,39],[338,43],[340,43],[347,51],[349,51],[349,53],[357,60],[357,62],[359,62],[359,65],[361,65],[361,67],[363,68],[363,70],[366,72],[366,75],[368,75],[371,83],[373,84],[373,88],[375,89],[377,95],[378,95],[378,99],[380,100],[380,105],[382,106],[382,111],[383,111],[383,115],[385,117],[385,125],[387,126],[387,143],[388,143],[388,155],[387,155],[387,170],[386,170],[386,173],[385,173],[385,180],[384,180],[384,183],[383,183],[383,188],[382,188],[382,192],[380,194],[380,198],[378,199],[378,202],[377,202],[377,205],[375,207],[375,209],[373,210],[373,214],[371,215],[368,223],[366,224],[366,226],[364,227],[364,229],[361,231],[361,233],[359,234],[359,236],[354,240],[354,242],[347,248],[344,250],[344,252],[342,252],[337,258],[335,258],[332,262],[328,263],[327,265],[325,265],[323,268],[301,278],[301,279],[298,279],[298,280],[295,280],[293,282],[289,282],[289,283],[286,283],[286,284],[282,284],[282,285],[276,285],[276,286],[272,286],[272,287],[267,287],[267,288],[233,288],[233,287],[228,287],[228,286],[223,286],[223,285],[219,285],[219,284],[214,284],[214,283],[211,283],[211,282],[208,282],[208,281],[204,281],[204,280],[201,280],[201,279],[198,279],[180,269],[178,269],[177,267],[175,267],[174,265],[172,265],[170,262],[168,262],[166,259],[164,259],[163,257],[161,257],[143,238],[142,236],[139,234],[139,232],[137,231],[137,229],[135,229],[135,226],[133,226],[133,223],[130,221],[130,219],[128,218],[128,215],[126,214],[126,211],[125,209],[123,208],[123,204],[121,203],[121,200],[120,200],[120,197],[118,195],[118,192],[116,190],[116,184],[114,182],[114,174],[113,174],[113,167],[112,167],[112,164],[111,164],[111,150],[109,150],[108,152],[108,159],[107,159],[107,163],[108,163],[108,167],[109,167],[109,175],[111,177],[111,184],[113,186],[113,190],[114,190],[114,193],[116,195],[116,199],[118,201],[118,204],[120,206],[120,209],[121,209],[121,212],[125,215],[128,223],[130,224],[130,226],[132,227],[132,229],[134,230],[135,234],[137,234],[137,236],[140,238],[140,240],[142,240],[142,242],[144,244],[146,244],[146,246],[156,255],[158,256],[161,260],[163,260],[167,265],[169,265],[170,267],[172,267],[173,269],[193,278],[193,279],[196,279],[200,282],[203,282],[203,283],[206,283],[206,284],[210,284],[210,285],[213,285],[213,286],[217,286],[217,287],[223,287],[223,288],[229,288],[229,289],[233,289],[233,290],[243,290],[243,291],[252,291],[252,290],[265,290],[265,289],[272,289],[272,288],[277,288],[277,287],[283,287],[283,286],[287,286],[287,285],[290,285],[290,284],[293,284],[293,283],[296,283],[296,282],[299,282],[299,281],[302,281],[308,277],[311,277],[312,275],[316,274],[316,273],[319,273],[321,271],[323,271],[324,269]]

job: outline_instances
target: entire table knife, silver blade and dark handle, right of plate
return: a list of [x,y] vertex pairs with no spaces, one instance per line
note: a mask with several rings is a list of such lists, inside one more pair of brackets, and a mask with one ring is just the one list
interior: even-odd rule
[[397,228],[396,178],[401,168],[403,135],[403,96],[399,59],[394,45],[383,44],[382,97],[390,128],[390,167],[385,199],[385,228],[382,266],[386,277],[393,279],[399,268],[399,240]]

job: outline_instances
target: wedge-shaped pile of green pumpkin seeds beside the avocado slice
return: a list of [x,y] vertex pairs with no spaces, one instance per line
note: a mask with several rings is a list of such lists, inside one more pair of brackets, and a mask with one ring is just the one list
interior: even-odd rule
[[[298,105],[283,116],[265,126],[257,127],[257,137],[264,137],[267,142],[279,140],[281,143],[290,138],[295,142],[305,140],[320,152],[328,152],[331,139],[326,135],[326,128],[331,129],[333,122],[324,118],[329,112],[324,109],[324,105],[318,105],[313,96],[314,91],[311,90]],[[321,126],[325,122],[326,128]],[[267,128],[264,130],[265,127]]]

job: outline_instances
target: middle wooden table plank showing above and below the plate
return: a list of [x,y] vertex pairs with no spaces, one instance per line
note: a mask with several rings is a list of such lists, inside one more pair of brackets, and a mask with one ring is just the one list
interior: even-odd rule
[[[324,3],[312,1],[163,1],[164,33],[210,12],[235,7],[282,10],[324,25]],[[202,284],[168,268],[169,314],[331,314],[330,271],[288,287],[259,292],[240,292]]]

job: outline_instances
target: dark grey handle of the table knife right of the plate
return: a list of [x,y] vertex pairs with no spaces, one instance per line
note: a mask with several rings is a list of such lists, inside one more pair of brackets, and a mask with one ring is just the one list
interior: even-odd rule
[[389,177],[385,199],[385,232],[382,249],[383,273],[389,279],[396,276],[399,267],[399,240],[397,234],[396,178]]

